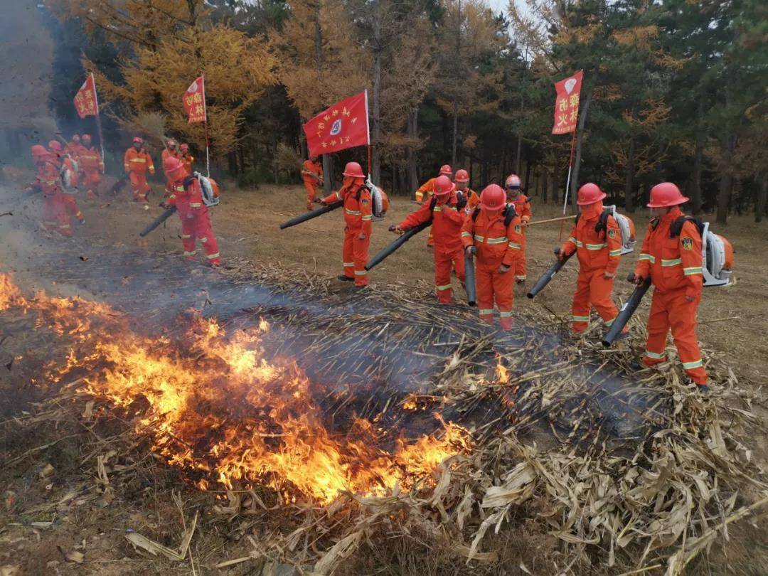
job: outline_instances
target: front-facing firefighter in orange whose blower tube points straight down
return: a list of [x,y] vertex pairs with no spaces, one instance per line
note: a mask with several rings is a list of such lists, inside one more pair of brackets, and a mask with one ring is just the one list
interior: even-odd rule
[[516,260],[520,257],[522,230],[515,208],[506,203],[498,184],[490,184],[480,194],[475,208],[462,226],[465,253],[475,257],[475,289],[480,318],[493,323],[493,305],[498,307],[502,329],[512,327],[512,287]]

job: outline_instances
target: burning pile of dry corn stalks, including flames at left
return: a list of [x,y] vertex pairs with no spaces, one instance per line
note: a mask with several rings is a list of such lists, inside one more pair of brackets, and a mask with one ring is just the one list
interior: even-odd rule
[[[280,269],[255,275],[296,287]],[[500,338],[471,313],[423,306],[397,290],[356,296],[335,324],[296,310],[253,310],[255,328],[195,318],[180,339],[148,339],[101,305],[78,303],[74,322],[54,300],[24,300],[3,282],[0,309],[34,312],[38,326],[78,341],[67,366],[51,372],[82,378],[72,400],[81,406],[93,397],[104,413],[123,411],[187,478],[223,485],[227,496],[214,508],[222,518],[263,518],[258,531],[233,525],[253,553],[228,566],[271,558],[317,574],[353,573],[386,555],[392,538],[414,538],[443,568],[504,571],[500,535],[526,518],[525,531],[558,542],[534,573],[679,574],[766,502],[745,441],[758,424],[751,399],[719,359],[710,360],[714,392],[703,398],[671,364],[628,380],[630,349],[604,351],[589,335],[576,343],[529,328]],[[308,276],[303,284],[322,291],[323,282]],[[272,329],[270,314],[279,324]],[[78,340],[82,316],[103,338]],[[291,327],[313,344],[288,356],[300,341],[288,337]],[[281,330],[267,355],[270,334]],[[373,358],[346,363],[361,341]],[[432,369],[382,361],[382,350],[403,342],[421,343],[412,352]],[[317,380],[299,368],[310,361]],[[339,372],[350,382],[399,386],[365,402],[361,392],[370,389],[318,389],[323,374]],[[340,422],[341,407],[345,425],[329,427],[328,412]],[[402,435],[409,419],[430,412],[445,422],[416,439]]]

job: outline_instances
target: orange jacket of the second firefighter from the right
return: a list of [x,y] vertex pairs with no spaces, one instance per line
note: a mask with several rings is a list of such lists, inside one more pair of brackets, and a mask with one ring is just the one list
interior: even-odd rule
[[608,216],[607,230],[595,232],[603,203],[597,202],[584,207],[578,220],[571,228],[571,235],[560,250],[566,254],[576,253],[581,270],[605,270],[616,273],[621,260],[621,231],[612,216]]

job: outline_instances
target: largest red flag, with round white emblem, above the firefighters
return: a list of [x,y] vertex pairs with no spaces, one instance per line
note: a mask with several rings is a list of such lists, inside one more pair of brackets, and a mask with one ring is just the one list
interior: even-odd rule
[[371,143],[368,132],[368,91],[350,96],[304,124],[310,156]]

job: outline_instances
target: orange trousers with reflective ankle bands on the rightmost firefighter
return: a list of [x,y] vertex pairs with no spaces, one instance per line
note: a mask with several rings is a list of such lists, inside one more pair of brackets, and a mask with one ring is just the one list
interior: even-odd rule
[[707,371],[701,362],[701,351],[696,338],[696,309],[701,296],[694,302],[685,298],[685,288],[660,292],[654,290],[648,315],[648,341],[645,345],[643,362],[654,366],[664,362],[664,349],[667,347],[667,333],[672,329],[672,339],[677,347],[677,355],[691,380],[697,384],[707,384]]

